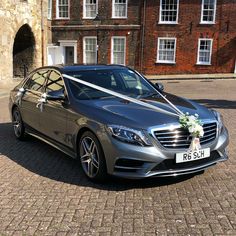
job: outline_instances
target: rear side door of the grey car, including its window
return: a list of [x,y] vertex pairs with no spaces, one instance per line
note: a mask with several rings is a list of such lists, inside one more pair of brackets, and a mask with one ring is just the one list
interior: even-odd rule
[[21,99],[21,115],[24,123],[39,131],[39,115],[40,110],[37,108],[43,86],[46,83],[48,75],[47,69],[40,69],[34,72],[24,84],[25,93]]

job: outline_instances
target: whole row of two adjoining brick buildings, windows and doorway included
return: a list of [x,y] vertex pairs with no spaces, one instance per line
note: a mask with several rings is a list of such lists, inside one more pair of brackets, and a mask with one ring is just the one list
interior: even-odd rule
[[48,63],[233,73],[235,0],[49,0]]

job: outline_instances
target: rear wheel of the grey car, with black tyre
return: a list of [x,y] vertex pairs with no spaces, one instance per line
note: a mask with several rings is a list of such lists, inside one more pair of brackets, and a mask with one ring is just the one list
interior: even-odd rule
[[25,138],[25,127],[22,121],[20,110],[17,107],[15,107],[12,112],[12,124],[16,138],[23,140]]

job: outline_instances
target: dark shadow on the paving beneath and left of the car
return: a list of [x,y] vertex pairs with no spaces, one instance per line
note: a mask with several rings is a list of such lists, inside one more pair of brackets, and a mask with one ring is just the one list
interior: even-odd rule
[[0,124],[0,155],[9,158],[30,172],[52,180],[110,191],[160,187],[176,184],[194,177],[194,175],[186,175],[143,180],[111,177],[104,183],[93,183],[82,173],[77,160],[30,136],[25,141],[16,140],[11,123]]

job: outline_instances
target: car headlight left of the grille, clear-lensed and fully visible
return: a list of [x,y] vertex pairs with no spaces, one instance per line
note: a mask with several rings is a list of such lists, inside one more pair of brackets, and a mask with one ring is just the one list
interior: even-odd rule
[[120,125],[108,125],[108,131],[122,142],[132,143],[140,146],[151,146],[152,143],[143,131],[127,128]]

